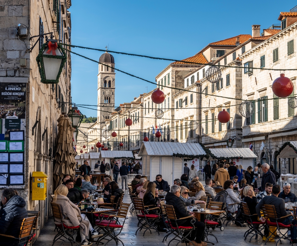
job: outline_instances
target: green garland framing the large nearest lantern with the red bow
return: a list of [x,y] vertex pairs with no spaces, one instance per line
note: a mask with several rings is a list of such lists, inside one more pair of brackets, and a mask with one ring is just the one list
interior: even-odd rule
[[[56,55],[43,55],[42,54],[44,52],[45,48],[48,46],[47,43],[42,45],[42,47],[41,47],[41,49],[39,51],[39,54],[36,57],[38,70],[39,70],[39,74],[40,74],[40,78],[41,78],[41,83],[43,83],[43,84],[58,84],[60,75],[61,75],[62,70],[63,70],[63,67],[64,67],[64,65],[66,63],[66,60],[67,60],[66,52],[64,51],[62,44],[59,44],[59,43],[57,43],[57,44],[58,44],[58,49],[62,52],[62,55],[63,55],[62,59],[59,58],[59,56],[56,56]],[[42,57],[61,59],[62,60],[57,79],[45,79],[44,63],[43,63]]]

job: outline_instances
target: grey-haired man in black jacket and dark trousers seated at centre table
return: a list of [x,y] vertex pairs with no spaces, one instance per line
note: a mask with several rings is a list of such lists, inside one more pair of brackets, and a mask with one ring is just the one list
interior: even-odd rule
[[[196,182],[197,183],[197,182]],[[176,218],[179,220],[180,218],[193,216],[193,212],[188,212],[187,208],[184,205],[184,202],[180,198],[181,187],[177,185],[173,185],[170,189],[170,192],[167,192],[165,201],[166,205],[171,205],[174,207]],[[178,221],[178,226],[192,226],[191,220],[195,218],[187,218],[184,220]],[[176,226],[175,221],[171,221],[173,226]],[[205,224],[203,222],[195,220],[193,226],[195,226],[195,230],[188,236],[188,239],[191,240],[192,244],[195,246],[206,246],[206,242],[202,242],[203,233],[205,230]]]

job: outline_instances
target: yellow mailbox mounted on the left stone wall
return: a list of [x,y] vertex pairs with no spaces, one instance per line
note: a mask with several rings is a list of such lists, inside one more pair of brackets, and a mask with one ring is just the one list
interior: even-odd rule
[[32,173],[32,200],[45,200],[48,175],[44,172]]

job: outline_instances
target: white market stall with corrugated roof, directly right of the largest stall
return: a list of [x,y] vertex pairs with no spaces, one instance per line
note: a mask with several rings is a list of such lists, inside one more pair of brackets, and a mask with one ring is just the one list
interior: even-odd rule
[[[235,165],[242,165],[244,170],[248,166],[254,167],[254,158],[258,158],[249,148],[210,148],[213,160],[233,159]],[[238,158],[239,157],[239,158]]]

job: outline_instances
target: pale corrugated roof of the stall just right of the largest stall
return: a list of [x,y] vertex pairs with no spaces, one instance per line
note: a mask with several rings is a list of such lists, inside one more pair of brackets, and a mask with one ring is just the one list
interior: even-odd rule
[[[243,158],[258,158],[249,148],[210,148],[209,151],[216,157],[243,157]],[[229,157],[229,158],[228,158]]]

